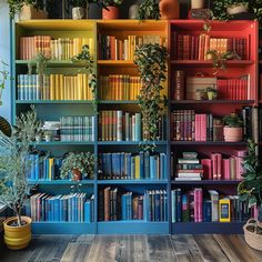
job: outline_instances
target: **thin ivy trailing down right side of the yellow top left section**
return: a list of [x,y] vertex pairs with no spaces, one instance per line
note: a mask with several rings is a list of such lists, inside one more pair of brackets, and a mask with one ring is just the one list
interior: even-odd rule
[[84,44],[82,47],[81,53],[74,56],[71,60],[72,60],[73,63],[83,63],[83,66],[84,66],[83,70],[89,75],[89,88],[92,91],[93,105],[94,105],[94,110],[97,112],[97,103],[98,103],[98,100],[97,100],[97,85],[98,85],[98,79],[97,79],[97,74],[94,73],[94,60],[93,60],[93,57],[90,53],[89,46]]

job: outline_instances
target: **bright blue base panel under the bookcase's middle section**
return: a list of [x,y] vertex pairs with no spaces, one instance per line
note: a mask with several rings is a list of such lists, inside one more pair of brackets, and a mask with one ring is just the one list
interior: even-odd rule
[[98,222],[98,234],[169,234],[169,223],[141,220]]

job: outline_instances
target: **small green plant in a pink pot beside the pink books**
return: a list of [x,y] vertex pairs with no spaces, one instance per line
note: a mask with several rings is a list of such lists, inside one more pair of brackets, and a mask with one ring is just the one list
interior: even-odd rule
[[231,113],[223,118],[224,128],[224,141],[239,142],[243,138],[243,120],[238,113]]

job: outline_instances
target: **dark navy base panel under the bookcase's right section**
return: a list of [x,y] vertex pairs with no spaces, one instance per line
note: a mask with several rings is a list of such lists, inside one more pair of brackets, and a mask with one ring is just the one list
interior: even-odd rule
[[181,222],[172,223],[172,234],[242,234],[242,222]]

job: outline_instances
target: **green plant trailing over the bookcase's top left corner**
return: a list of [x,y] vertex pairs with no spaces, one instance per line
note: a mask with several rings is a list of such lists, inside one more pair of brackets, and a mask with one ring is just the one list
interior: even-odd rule
[[8,0],[9,16],[14,18],[16,13],[20,12],[24,4],[31,4],[36,9],[43,10],[43,0]]

